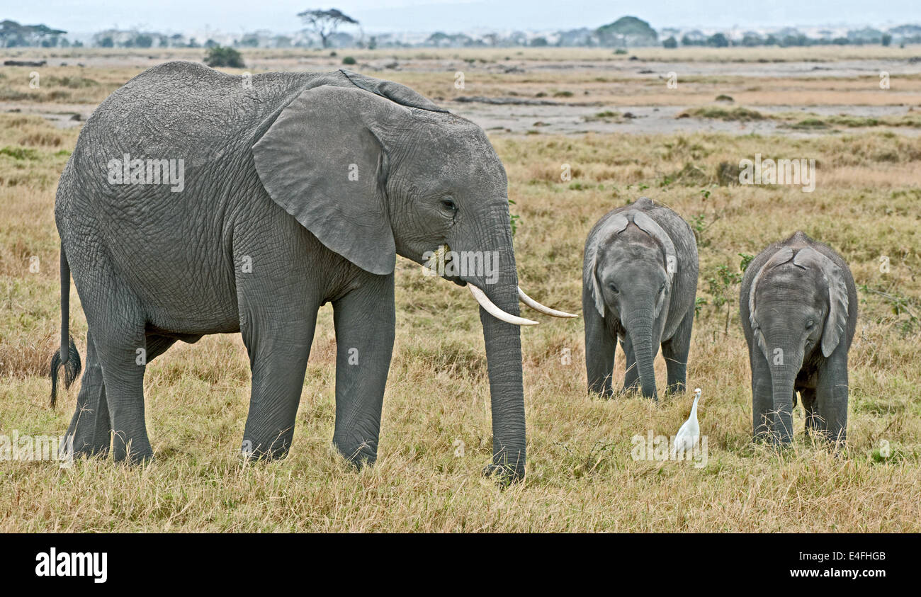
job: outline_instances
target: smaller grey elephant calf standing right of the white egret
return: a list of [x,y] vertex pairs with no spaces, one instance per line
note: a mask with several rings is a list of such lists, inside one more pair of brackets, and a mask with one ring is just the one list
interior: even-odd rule
[[847,350],[857,326],[857,291],[844,260],[797,232],[749,264],[739,304],[752,364],[753,439],[791,441],[799,392],[806,428],[844,441]]

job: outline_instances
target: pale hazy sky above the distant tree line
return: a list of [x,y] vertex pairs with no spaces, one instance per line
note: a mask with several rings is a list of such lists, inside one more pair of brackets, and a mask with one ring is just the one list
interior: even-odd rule
[[[921,23],[921,0],[2,0],[0,18],[86,33],[301,29],[297,13],[339,8],[368,32],[596,28],[630,15],[652,27],[742,29]],[[15,5],[15,6],[14,6]]]

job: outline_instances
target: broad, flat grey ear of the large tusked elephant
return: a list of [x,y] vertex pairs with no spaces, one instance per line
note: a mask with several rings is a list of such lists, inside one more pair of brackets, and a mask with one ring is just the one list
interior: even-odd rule
[[324,245],[372,274],[393,271],[381,126],[407,108],[359,88],[303,91],[252,146],[274,202]]

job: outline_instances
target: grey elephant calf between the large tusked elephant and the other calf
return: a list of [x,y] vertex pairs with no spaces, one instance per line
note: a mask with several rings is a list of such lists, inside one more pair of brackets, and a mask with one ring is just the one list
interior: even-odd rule
[[582,270],[589,392],[613,394],[618,340],[626,355],[624,391],[658,397],[653,360],[661,345],[668,390],[682,392],[696,293],[697,242],[681,217],[647,197],[602,217],[589,232]]

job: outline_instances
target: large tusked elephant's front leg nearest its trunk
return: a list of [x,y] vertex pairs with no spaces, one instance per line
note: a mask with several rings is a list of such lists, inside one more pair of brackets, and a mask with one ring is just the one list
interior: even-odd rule
[[391,367],[393,275],[368,274],[332,303],[336,328],[336,427],[332,443],[357,465],[378,457],[380,411]]

